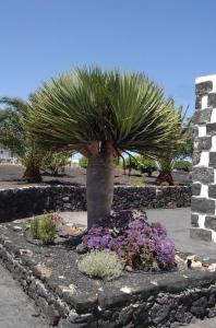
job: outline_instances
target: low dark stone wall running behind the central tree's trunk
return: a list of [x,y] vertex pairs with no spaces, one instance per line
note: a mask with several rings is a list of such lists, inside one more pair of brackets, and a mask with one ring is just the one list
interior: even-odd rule
[[[0,190],[0,222],[45,211],[86,211],[86,188],[29,186]],[[191,186],[115,187],[113,210],[190,207]]]

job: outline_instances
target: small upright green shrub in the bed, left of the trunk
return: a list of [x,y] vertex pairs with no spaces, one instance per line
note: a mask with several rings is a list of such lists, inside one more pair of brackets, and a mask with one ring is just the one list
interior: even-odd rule
[[31,232],[33,237],[40,239],[43,244],[52,244],[56,237],[56,223],[52,214],[45,214],[43,218],[36,218],[31,222]]

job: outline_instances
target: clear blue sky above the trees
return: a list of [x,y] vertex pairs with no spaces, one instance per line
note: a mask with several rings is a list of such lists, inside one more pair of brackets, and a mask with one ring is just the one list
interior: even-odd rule
[[0,96],[97,65],[144,72],[192,115],[215,38],[215,0],[0,0]]

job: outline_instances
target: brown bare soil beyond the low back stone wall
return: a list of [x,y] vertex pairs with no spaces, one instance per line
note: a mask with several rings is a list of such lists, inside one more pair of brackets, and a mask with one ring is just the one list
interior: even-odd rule
[[[21,165],[0,165],[0,189],[15,188],[25,186],[26,183],[22,180],[24,167]],[[140,172],[132,171],[129,174],[128,171],[120,168],[115,169],[115,185],[116,186],[144,186],[155,185],[157,172],[153,173],[152,177],[147,177]],[[188,185],[191,183],[189,174],[185,172],[173,172],[172,173],[175,184]],[[86,184],[86,169],[77,166],[68,166],[63,174],[59,176],[51,176],[49,173],[43,174],[41,184],[61,184],[61,185],[74,185],[85,186]],[[28,184],[32,186],[34,184]]]

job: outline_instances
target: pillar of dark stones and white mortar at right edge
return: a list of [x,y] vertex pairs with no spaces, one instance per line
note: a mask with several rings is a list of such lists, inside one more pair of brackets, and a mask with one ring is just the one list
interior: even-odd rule
[[195,80],[191,237],[216,243],[216,74]]

